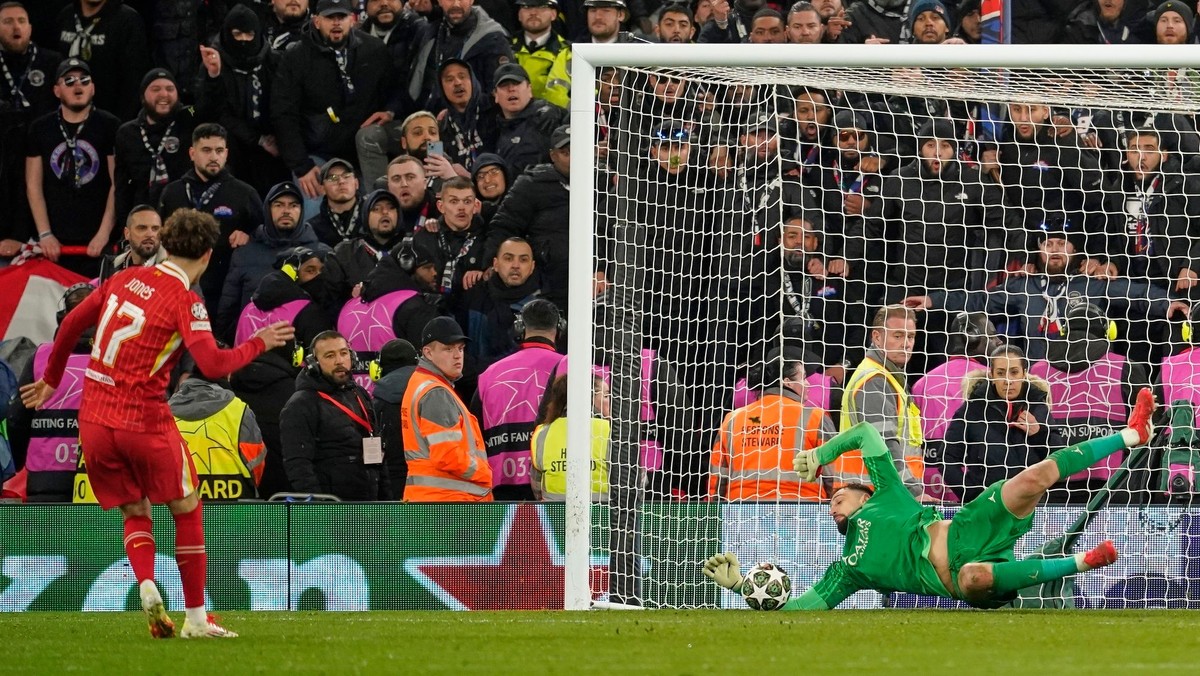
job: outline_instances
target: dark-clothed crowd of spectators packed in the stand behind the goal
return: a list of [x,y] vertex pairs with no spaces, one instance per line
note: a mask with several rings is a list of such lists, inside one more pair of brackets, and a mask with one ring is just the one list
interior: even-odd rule
[[[1020,43],[1196,37],[1180,0],[1012,12]],[[1121,391],[1158,377],[1178,337],[1171,321],[1195,315],[1194,115],[606,70],[596,138],[568,124],[581,41],[888,49],[980,36],[978,0],[0,2],[0,264],[40,253],[103,280],[157,263],[162,222],[197,209],[221,225],[198,285],[220,339],[287,318],[301,348],[338,329],[358,367],[388,339],[421,349],[430,322],[452,317],[469,339],[455,384],[469,402],[480,375],[522,347],[512,325],[526,305],[570,313],[574,142],[599,164],[599,263],[572,274],[593,275],[601,328],[620,313],[606,286],[631,257],[620,245],[644,252],[637,277],[620,281],[647,291],[637,335],[653,364],[650,490],[707,492],[736,383],[781,334],[806,351],[805,373],[824,378],[833,395],[820,403],[838,420],[836,393],[886,305],[918,311],[900,369],[913,378],[959,357],[959,313],[990,317],[1010,349],[990,355],[991,389],[967,382],[965,411],[988,418],[997,397],[1049,393],[1046,411],[1031,408],[1037,421],[1021,423],[1042,449],[1058,438],[1043,427],[1061,399],[1036,379],[1009,393],[996,369],[1020,381],[1070,361],[1056,363],[1054,346],[1084,335],[1067,330],[1072,299],[1121,324],[1103,331]],[[1156,86],[1168,97],[1194,79],[1171,72]],[[551,336],[560,348],[562,331]],[[596,343],[616,337],[598,331]],[[974,357],[986,366],[989,354]],[[1126,360],[1144,372],[1130,377]],[[290,487],[280,415],[300,371],[281,351],[229,384],[265,420],[272,491]],[[956,409],[938,432],[959,459],[977,437],[956,421],[947,431]],[[372,496],[395,495],[386,473],[371,481]]]

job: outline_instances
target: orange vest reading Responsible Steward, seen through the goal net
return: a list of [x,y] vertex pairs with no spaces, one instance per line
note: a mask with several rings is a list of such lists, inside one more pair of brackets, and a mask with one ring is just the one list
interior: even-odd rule
[[708,495],[731,501],[823,499],[820,481],[800,481],[792,469],[796,451],[823,443],[823,415],[782,394],[767,394],[727,414],[713,445]]

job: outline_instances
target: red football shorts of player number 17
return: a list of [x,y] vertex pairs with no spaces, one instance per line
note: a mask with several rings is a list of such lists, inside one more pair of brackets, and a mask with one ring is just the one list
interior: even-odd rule
[[196,492],[196,465],[174,425],[131,432],[79,421],[88,480],[96,502],[112,509],[150,498],[154,504]]

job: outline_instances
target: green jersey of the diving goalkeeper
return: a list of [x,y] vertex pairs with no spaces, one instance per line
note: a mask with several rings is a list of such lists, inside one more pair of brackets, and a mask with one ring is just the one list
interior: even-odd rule
[[929,562],[928,528],[942,515],[912,497],[878,432],[860,423],[821,447],[818,460],[827,465],[856,448],[863,451],[875,495],[850,516],[841,561],[784,610],[835,608],[859,590],[950,596]]

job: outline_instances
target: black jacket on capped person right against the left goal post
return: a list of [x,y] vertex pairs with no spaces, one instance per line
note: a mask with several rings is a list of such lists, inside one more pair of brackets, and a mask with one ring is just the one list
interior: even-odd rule
[[521,174],[488,226],[484,261],[496,258],[500,244],[521,237],[533,247],[545,281],[546,298],[566,315],[566,261],[570,247],[568,211],[570,179],[553,164],[538,164]]

